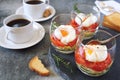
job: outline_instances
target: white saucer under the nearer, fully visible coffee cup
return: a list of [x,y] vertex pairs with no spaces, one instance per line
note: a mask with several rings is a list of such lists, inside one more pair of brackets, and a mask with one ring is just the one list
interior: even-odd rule
[[0,46],[4,47],[4,48],[8,48],[8,49],[24,49],[24,48],[28,48],[28,47],[31,47],[31,46],[37,44],[44,38],[45,29],[43,28],[42,25],[40,25],[39,23],[36,23],[36,22],[33,24],[33,26],[36,29],[35,36],[32,38],[32,40],[30,40],[29,42],[26,42],[24,44],[15,44],[11,41],[6,40],[5,29],[2,26],[0,28]]

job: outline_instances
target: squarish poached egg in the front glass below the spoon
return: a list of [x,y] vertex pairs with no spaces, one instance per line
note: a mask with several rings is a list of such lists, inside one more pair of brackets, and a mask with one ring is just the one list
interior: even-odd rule
[[85,58],[90,62],[101,62],[107,58],[105,45],[85,45]]

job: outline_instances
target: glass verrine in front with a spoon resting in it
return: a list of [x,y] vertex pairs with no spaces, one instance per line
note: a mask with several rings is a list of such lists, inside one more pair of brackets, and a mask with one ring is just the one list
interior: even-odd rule
[[91,40],[106,40],[112,35],[104,30],[98,30],[91,39],[79,40],[75,50],[75,62],[83,73],[89,76],[101,76],[111,67],[116,49],[116,39],[100,44]]

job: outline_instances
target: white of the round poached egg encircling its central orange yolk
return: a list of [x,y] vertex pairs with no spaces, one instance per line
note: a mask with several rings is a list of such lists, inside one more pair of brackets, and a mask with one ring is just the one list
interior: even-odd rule
[[[64,29],[68,32],[67,36],[62,36],[61,29]],[[76,38],[76,31],[71,25],[60,25],[54,32],[55,37],[60,39],[64,44],[68,44]]]

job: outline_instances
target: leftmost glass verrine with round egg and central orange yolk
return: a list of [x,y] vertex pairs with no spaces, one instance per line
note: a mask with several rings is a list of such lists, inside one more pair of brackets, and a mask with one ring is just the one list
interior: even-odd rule
[[54,48],[65,54],[75,50],[76,42],[80,33],[80,25],[74,27],[74,17],[71,14],[59,14],[51,21],[50,40]]

